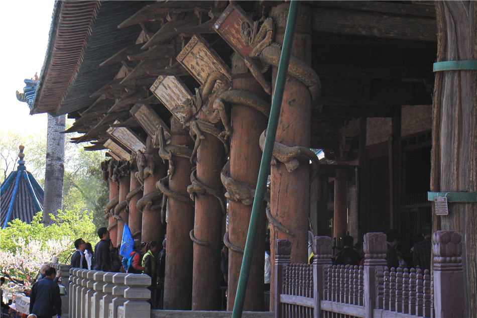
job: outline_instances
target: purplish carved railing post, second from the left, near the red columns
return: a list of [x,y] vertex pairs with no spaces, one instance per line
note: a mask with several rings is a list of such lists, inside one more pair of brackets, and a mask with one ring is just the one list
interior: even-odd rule
[[320,300],[323,297],[323,272],[331,265],[331,238],[315,236],[313,238],[313,297],[315,298],[314,317],[320,316]]

